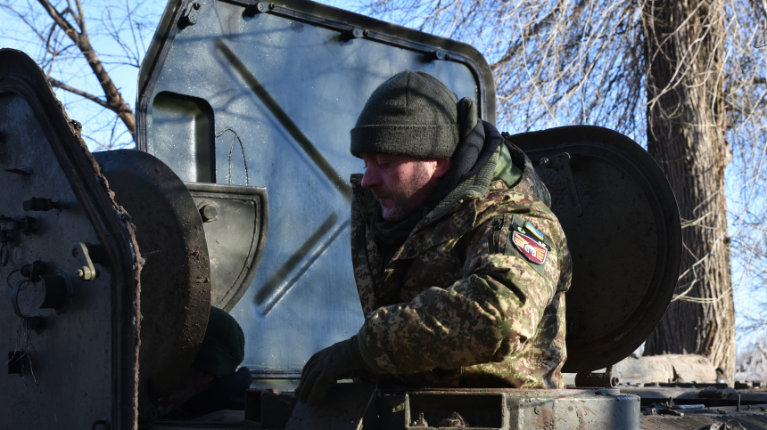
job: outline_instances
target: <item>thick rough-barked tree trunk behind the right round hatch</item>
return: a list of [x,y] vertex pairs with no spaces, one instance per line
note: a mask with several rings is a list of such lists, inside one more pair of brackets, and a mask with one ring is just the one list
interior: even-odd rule
[[724,200],[722,0],[649,0],[644,6],[647,150],[664,169],[682,218],[675,301],[645,353],[699,353],[728,378],[735,308]]

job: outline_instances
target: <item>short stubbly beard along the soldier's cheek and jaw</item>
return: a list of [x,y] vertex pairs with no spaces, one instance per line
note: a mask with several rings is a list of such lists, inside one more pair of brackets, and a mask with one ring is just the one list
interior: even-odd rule
[[375,199],[381,203],[382,198],[391,199],[393,207],[384,211],[382,204],[382,214],[386,221],[402,221],[421,207],[425,199],[431,194],[432,188],[425,187],[429,182],[430,175],[425,166],[425,162],[416,164],[416,169],[408,181],[396,184],[388,193],[373,191]]

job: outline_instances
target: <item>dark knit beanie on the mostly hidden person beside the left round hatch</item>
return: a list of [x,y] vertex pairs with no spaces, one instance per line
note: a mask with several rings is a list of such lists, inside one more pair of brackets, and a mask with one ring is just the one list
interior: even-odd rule
[[226,311],[210,306],[208,327],[200,352],[192,367],[214,377],[227,377],[245,359],[245,335],[237,321]]

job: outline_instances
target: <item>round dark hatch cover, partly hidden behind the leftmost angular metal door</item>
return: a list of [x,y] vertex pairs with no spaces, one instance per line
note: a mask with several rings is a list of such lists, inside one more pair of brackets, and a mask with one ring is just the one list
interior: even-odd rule
[[[173,171],[145,152],[94,157],[136,226],[141,269],[139,387],[166,396],[191,367],[210,314],[210,262],[202,219]],[[140,388],[141,389],[141,388]]]

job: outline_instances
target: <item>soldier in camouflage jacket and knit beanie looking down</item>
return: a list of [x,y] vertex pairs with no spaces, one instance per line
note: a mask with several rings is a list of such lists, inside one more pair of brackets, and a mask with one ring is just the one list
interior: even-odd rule
[[351,258],[365,322],[315,353],[296,395],[344,377],[562,388],[565,233],[529,158],[438,79],[404,71],[351,130]]

